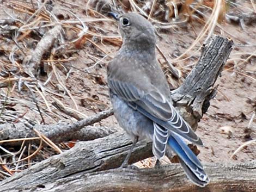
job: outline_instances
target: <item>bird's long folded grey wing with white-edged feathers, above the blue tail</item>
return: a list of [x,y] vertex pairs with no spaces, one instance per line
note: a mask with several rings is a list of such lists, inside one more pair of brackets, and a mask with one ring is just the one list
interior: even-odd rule
[[[108,86],[132,108],[138,110],[155,123],[173,131],[194,144],[203,145],[202,140],[176,112],[175,108],[157,90],[145,92],[135,85],[108,78]],[[155,137],[155,136],[154,136]]]

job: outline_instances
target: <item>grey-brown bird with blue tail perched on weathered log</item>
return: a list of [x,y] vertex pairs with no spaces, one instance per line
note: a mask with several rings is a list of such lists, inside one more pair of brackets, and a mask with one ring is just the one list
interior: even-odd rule
[[153,141],[156,165],[167,150],[178,156],[187,177],[199,187],[209,183],[202,164],[184,139],[202,140],[173,106],[167,79],[156,60],[153,24],[137,13],[109,12],[118,22],[123,44],[107,66],[107,83],[114,116],[132,140],[121,165],[128,165],[138,140]]

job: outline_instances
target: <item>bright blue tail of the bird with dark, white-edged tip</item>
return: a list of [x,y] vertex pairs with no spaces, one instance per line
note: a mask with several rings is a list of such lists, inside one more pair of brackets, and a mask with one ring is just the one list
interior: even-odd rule
[[169,147],[179,156],[179,161],[184,169],[186,175],[190,180],[198,185],[204,187],[209,183],[209,178],[204,172],[202,164],[199,162],[197,156],[185,144],[185,142],[175,133],[171,134],[168,139]]

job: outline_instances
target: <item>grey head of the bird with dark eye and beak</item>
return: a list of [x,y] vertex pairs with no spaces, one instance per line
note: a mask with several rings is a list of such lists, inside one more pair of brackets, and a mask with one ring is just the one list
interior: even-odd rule
[[119,30],[124,45],[133,45],[139,48],[155,48],[156,36],[153,25],[137,13],[118,15],[110,12],[118,21]]

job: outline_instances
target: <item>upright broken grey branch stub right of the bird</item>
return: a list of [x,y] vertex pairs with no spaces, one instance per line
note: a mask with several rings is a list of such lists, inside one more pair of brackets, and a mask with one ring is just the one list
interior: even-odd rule
[[197,65],[185,82],[172,91],[172,98],[180,114],[196,130],[197,123],[216,95],[214,84],[231,52],[233,41],[214,35],[202,47]]

